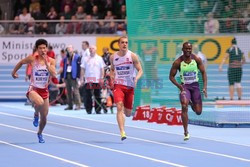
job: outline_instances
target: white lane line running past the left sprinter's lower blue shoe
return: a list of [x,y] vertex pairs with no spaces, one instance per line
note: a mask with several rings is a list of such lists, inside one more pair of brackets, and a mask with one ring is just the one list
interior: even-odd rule
[[[19,127],[12,126],[12,125],[7,125],[7,124],[1,124],[0,123],[0,126],[7,127],[7,128],[12,128],[12,129],[16,129],[16,130],[21,130],[21,131],[25,131],[25,132],[36,133],[35,131],[29,130],[29,129],[19,128]],[[112,149],[112,148],[108,148],[108,147],[102,147],[102,146],[89,144],[89,143],[85,143],[85,142],[81,142],[81,141],[77,141],[77,140],[73,140],[73,139],[69,139],[69,138],[65,138],[65,137],[51,135],[51,134],[48,134],[48,133],[43,133],[43,135],[44,136],[49,136],[49,137],[52,137],[52,138],[56,138],[56,139],[60,139],[60,140],[65,140],[65,141],[77,143],[77,144],[82,144],[82,145],[86,145],[86,146],[90,146],[90,147],[95,147],[95,148],[98,148],[98,149],[103,149],[103,150],[107,150],[107,151],[126,154],[126,155],[130,155],[130,156],[134,156],[134,157],[154,161],[154,162],[157,162],[157,163],[172,165],[172,166],[176,166],[176,167],[186,167],[184,165],[180,165],[180,164],[176,164],[176,163],[172,163],[172,162],[168,162],[168,161],[163,161],[163,160],[160,160],[160,159],[151,158],[151,157],[143,156],[143,155],[140,155],[140,154],[135,154],[135,153],[130,153],[130,152],[126,152],[126,151],[116,150],[116,149]]]

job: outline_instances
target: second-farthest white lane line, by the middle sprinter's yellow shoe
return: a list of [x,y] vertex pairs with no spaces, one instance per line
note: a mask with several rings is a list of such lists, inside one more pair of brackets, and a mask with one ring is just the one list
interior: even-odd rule
[[[2,114],[2,112],[0,112],[0,114]],[[9,116],[14,116],[14,117],[19,117],[19,118],[24,118],[24,119],[31,120],[31,118],[24,117],[24,116],[19,116],[19,115],[14,115],[14,114],[5,113],[4,115],[9,115]],[[73,125],[67,125],[65,123],[61,124],[61,123],[52,122],[52,121],[48,121],[48,123],[63,126],[63,127],[67,127],[67,128],[85,130],[85,131],[90,131],[90,132],[95,132],[95,133],[102,133],[102,134],[112,135],[112,136],[119,136],[118,134],[115,134],[115,133],[104,132],[104,131],[100,131],[100,130],[83,128],[83,127],[78,127],[78,126],[73,126]],[[189,147],[182,147],[182,146],[177,146],[177,145],[172,145],[172,144],[166,144],[166,143],[161,143],[161,142],[157,142],[157,141],[152,141],[152,140],[142,139],[142,138],[137,138],[137,137],[132,137],[132,136],[129,136],[129,138],[134,139],[134,140],[147,142],[147,143],[153,143],[153,144],[158,144],[158,145],[162,145],[162,146],[167,146],[167,147],[174,147],[174,148],[184,149],[184,150],[188,150],[188,151],[200,152],[200,153],[205,153],[205,154],[210,154],[210,155],[221,156],[221,157],[226,157],[226,158],[230,158],[230,159],[236,159],[236,160],[240,160],[240,161],[250,162],[250,159],[231,156],[231,155],[227,155],[227,154],[221,154],[221,153],[216,153],[216,152],[211,152],[211,151],[204,151],[204,150],[199,150],[199,149],[194,149],[194,148],[189,148]]]

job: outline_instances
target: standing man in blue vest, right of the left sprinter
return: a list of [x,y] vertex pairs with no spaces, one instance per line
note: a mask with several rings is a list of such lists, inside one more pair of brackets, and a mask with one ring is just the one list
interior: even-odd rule
[[73,110],[73,103],[76,104],[75,110],[81,109],[78,84],[80,78],[80,62],[80,56],[77,53],[74,53],[73,46],[69,45],[67,47],[67,56],[63,61],[63,78],[66,83],[68,99],[68,107],[65,108],[65,110]]

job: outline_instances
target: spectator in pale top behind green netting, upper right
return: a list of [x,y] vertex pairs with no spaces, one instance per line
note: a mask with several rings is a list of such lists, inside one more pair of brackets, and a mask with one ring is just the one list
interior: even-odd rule
[[208,20],[204,24],[204,33],[205,34],[217,34],[219,33],[220,24],[217,19],[214,18],[213,13],[207,14]]

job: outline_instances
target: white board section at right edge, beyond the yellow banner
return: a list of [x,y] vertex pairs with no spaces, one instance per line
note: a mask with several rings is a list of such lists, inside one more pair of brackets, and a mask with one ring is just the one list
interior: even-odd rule
[[250,35],[236,35],[237,45],[244,53],[246,62],[250,63]]

